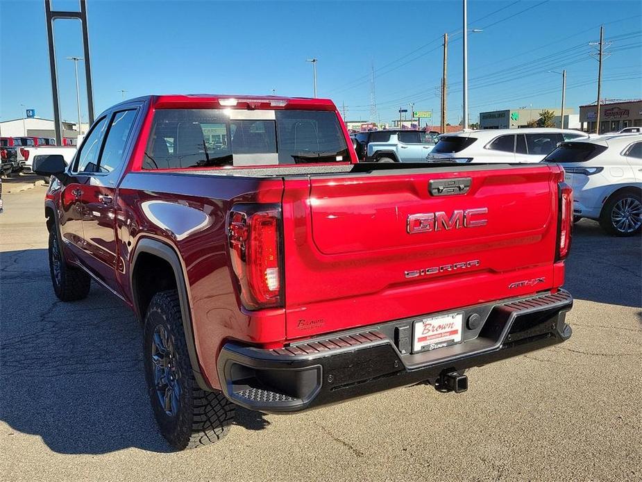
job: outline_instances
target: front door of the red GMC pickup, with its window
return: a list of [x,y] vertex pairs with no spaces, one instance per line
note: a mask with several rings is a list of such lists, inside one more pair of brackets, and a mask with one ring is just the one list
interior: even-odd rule
[[90,180],[90,169],[96,165],[103,140],[105,117],[99,119],[69,169],[69,176],[62,183],[60,192],[60,235],[62,241],[78,257],[85,260],[85,233],[83,217],[86,210],[87,184]]

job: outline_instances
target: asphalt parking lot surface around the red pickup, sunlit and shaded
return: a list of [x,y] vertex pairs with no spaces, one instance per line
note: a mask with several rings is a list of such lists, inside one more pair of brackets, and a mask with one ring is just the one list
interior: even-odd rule
[[239,410],[223,442],[175,453],[155,430],[133,315],[95,283],[83,301],[54,296],[44,192],[5,194],[0,215],[2,480],[642,480],[639,237],[577,224],[573,337],[471,370],[464,394]]

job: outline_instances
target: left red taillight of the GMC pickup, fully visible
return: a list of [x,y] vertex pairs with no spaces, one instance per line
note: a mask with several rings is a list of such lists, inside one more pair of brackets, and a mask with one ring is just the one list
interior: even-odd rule
[[230,258],[243,305],[249,310],[280,306],[278,206],[235,206],[228,222]]

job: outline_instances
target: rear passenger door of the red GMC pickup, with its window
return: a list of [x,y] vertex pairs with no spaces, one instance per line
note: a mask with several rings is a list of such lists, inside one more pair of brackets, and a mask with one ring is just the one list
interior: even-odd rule
[[85,251],[92,272],[110,288],[119,292],[116,281],[118,249],[116,239],[116,186],[124,167],[131,132],[138,109],[116,110],[108,116],[103,147],[85,190]]

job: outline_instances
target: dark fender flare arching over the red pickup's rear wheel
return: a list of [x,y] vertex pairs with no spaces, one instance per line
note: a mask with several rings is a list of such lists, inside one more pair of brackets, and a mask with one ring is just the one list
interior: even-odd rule
[[142,238],[135,247],[134,256],[132,258],[131,269],[129,271],[129,283],[132,290],[132,301],[135,312],[144,319],[144,313],[140,313],[138,307],[138,294],[136,286],[133,283],[134,270],[136,267],[136,260],[141,253],[151,254],[158,256],[162,260],[167,261],[174,271],[174,278],[176,279],[176,289],[178,290],[178,301],[180,303],[180,315],[183,318],[183,331],[185,332],[185,344],[187,344],[187,353],[189,354],[189,361],[192,363],[192,373],[196,383],[203,390],[212,391],[210,385],[205,381],[201,373],[201,365],[198,364],[198,354],[196,353],[196,342],[194,340],[194,330],[192,329],[192,313],[189,309],[189,297],[187,296],[187,283],[183,265],[180,263],[180,258],[176,249],[169,244],[155,240],[153,238]]

